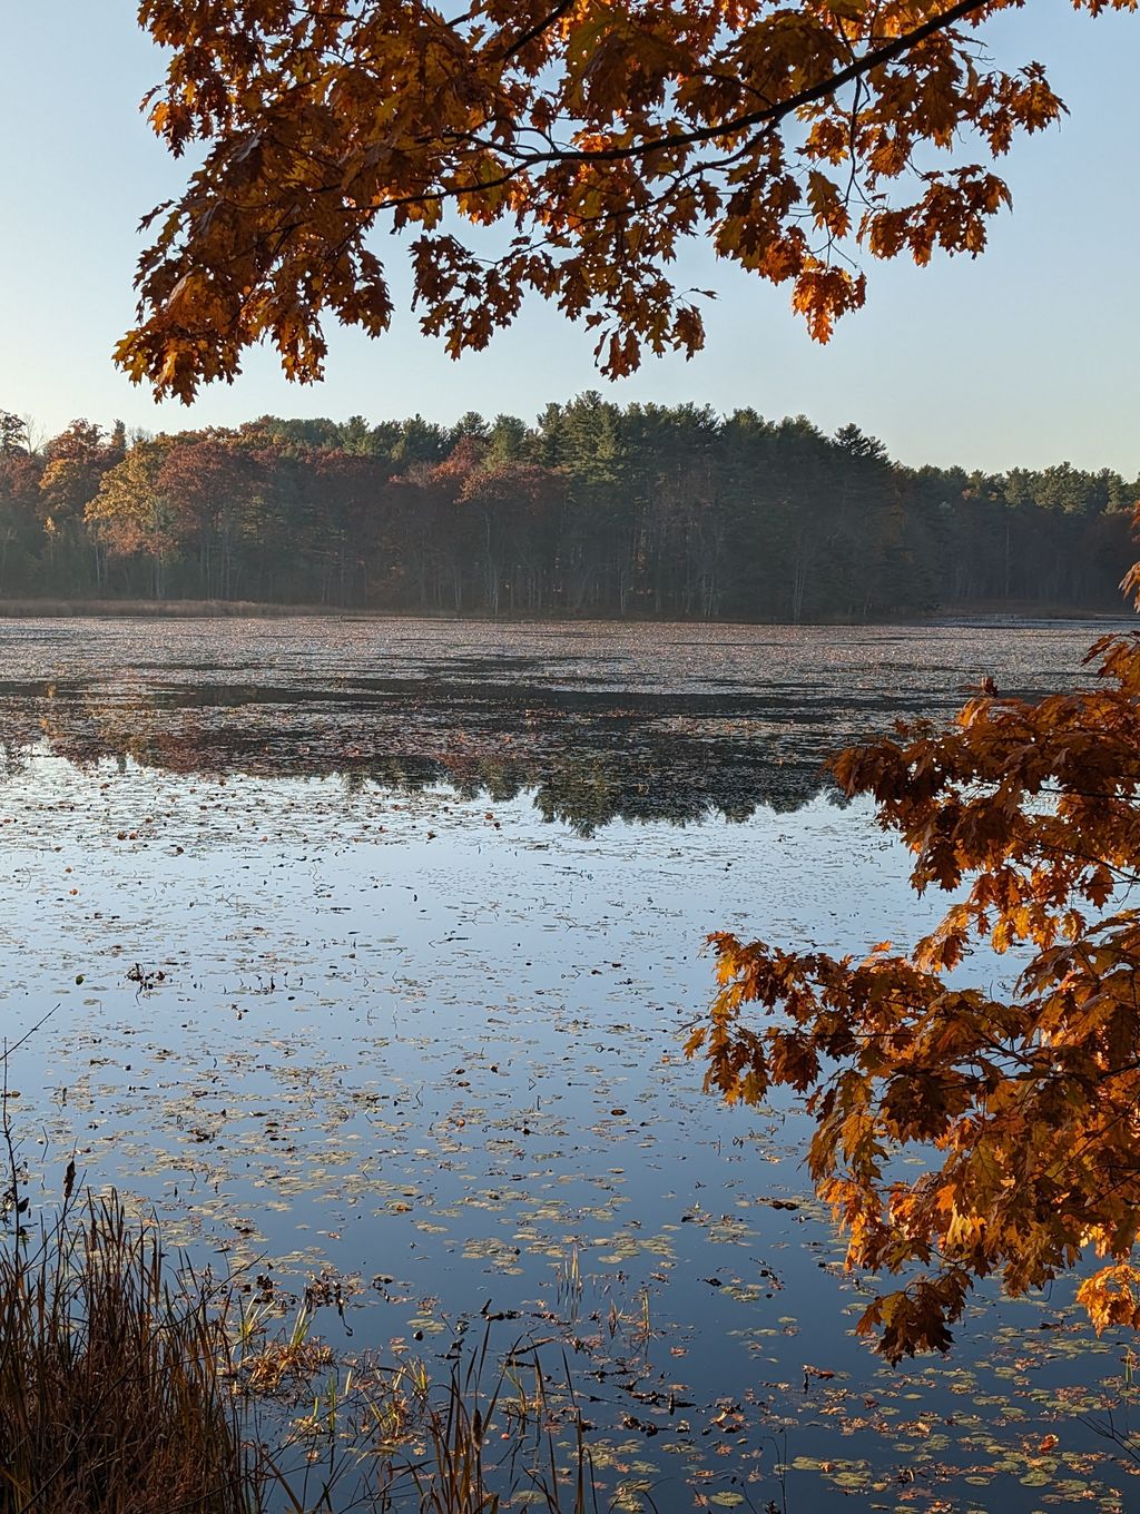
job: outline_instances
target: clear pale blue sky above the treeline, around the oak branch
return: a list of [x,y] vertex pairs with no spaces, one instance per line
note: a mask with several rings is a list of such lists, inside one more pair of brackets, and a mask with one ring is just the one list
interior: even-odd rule
[[[132,0],[0,0],[0,409],[29,416],[41,438],[76,416],[147,430],[266,413],[533,421],[551,400],[600,389],[621,404],[802,413],[825,431],[854,421],[911,465],[1069,460],[1140,474],[1140,15],[1090,20],[1063,0],[1028,0],[992,23],[995,58],[1045,62],[1070,117],[1005,159],[1014,209],[980,259],[928,269],[867,259],[867,307],[828,347],[810,341],[786,291],[695,244],[683,273],[719,298],[690,362],[649,357],[610,383],[593,366],[592,336],[531,300],[489,351],[456,363],[404,303],[378,342],[330,333],[319,385],[288,383],[273,353],[256,351],[235,385],[204,389],[189,409],[156,406],[111,362],[133,316],[138,223],[185,173],[138,112],[160,55]],[[394,239],[377,247],[398,256]]]

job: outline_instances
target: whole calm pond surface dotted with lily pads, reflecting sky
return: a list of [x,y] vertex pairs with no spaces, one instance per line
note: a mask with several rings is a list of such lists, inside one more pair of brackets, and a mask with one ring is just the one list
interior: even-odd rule
[[1069,1285],[983,1291],[887,1367],[802,1117],[681,1054],[709,931],[864,951],[939,911],[825,755],[983,675],[1072,684],[1093,634],[0,622],[35,1201],[74,1151],[347,1355],[537,1343],[601,1508],[1128,1506],[1126,1341]]

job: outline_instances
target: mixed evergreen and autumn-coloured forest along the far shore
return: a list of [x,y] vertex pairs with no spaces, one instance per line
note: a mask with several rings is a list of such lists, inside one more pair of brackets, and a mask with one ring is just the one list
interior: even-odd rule
[[854,622],[1111,612],[1140,480],[907,468],[845,425],[550,404],[39,441],[0,410],[0,598]]

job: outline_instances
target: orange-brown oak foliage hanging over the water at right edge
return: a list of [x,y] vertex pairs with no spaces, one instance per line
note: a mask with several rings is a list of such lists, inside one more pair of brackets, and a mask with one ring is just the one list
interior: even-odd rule
[[[1022,1294],[1085,1254],[1096,1329],[1140,1328],[1140,640],[1089,660],[1092,689],[980,690],[949,730],[899,725],[836,762],[914,854],[916,892],[955,896],[913,951],[715,937],[721,990],[689,1052],[730,1102],[805,1099],[848,1264],[902,1275],[858,1326],[890,1360],[945,1349],[980,1278]],[[952,977],[986,948],[1016,954],[1008,996]],[[908,1149],[928,1158],[914,1178]]]

